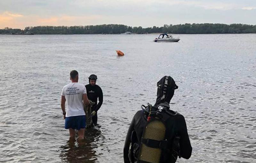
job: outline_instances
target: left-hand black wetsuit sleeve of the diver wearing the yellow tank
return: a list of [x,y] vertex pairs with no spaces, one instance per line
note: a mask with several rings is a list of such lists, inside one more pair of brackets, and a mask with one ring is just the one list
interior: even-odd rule
[[[135,116],[134,116],[135,117]],[[124,142],[124,163],[130,163],[129,157],[128,157],[128,153],[129,153],[129,147],[130,147],[130,143],[131,143],[131,136],[132,136],[132,131],[134,130],[134,122],[135,122],[135,118],[132,118],[132,122],[130,124],[130,127],[128,129],[126,138],[125,138],[125,142]]]

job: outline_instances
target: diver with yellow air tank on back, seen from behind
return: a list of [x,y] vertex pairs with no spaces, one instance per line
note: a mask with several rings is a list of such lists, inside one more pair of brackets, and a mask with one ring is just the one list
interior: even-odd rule
[[155,105],[142,105],[132,119],[124,144],[124,163],[174,163],[178,157],[191,156],[185,118],[169,105],[178,86],[171,76],[164,76],[157,87]]

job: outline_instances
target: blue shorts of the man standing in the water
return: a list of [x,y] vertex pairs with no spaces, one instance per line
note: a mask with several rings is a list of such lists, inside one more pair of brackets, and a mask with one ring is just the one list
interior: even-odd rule
[[65,129],[72,128],[74,130],[80,130],[85,128],[85,125],[85,116],[73,116],[65,118]]

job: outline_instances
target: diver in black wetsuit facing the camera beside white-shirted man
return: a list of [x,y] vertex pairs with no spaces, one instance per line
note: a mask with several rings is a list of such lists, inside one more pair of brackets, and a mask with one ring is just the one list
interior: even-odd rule
[[[95,74],[91,74],[89,76],[89,84],[85,85],[88,99],[94,102],[92,105],[92,123],[94,125],[97,124],[98,115],[97,111],[100,109],[103,102],[103,93],[100,86],[96,85],[97,76]],[[97,103],[99,98],[99,103]]]

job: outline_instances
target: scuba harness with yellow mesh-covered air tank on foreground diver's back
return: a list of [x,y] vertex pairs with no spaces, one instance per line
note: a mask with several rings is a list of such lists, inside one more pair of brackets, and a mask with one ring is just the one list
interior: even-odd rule
[[137,138],[134,138],[136,137],[135,131],[132,132],[130,149],[133,157],[129,157],[132,158],[130,161],[136,163],[160,163],[167,162],[167,160],[176,162],[178,156],[180,158],[180,137],[176,136],[172,143],[167,140],[165,121],[170,116],[177,115],[178,112],[172,113],[168,107],[155,107],[147,104],[148,106],[141,105],[147,124],[144,127],[140,144],[133,143]]

